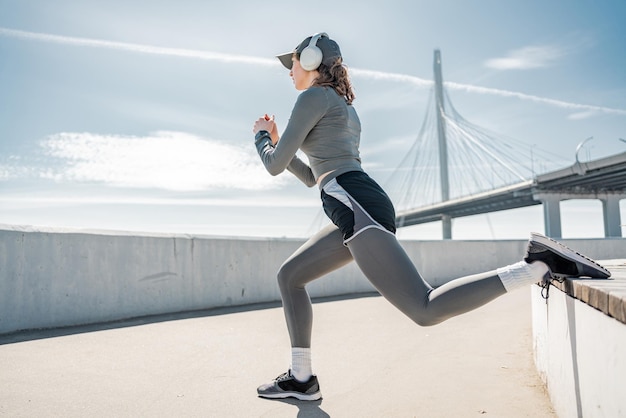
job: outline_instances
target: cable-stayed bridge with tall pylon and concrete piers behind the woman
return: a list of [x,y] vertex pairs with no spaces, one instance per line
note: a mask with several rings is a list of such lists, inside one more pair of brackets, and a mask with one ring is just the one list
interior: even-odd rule
[[465,120],[444,89],[438,50],[434,78],[417,139],[386,185],[398,209],[398,227],[441,221],[443,238],[451,239],[453,218],[541,204],[546,235],[560,238],[560,202],[598,199],[605,236],[622,236],[626,152],[580,162],[583,141],[570,165]]

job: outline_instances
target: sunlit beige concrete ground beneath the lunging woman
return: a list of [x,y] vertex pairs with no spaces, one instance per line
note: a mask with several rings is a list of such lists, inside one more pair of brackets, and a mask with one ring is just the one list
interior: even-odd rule
[[281,308],[254,308],[0,336],[0,416],[555,416],[529,291],[429,328],[380,296],[315,303],[315,402],[256,396],[290,351]]

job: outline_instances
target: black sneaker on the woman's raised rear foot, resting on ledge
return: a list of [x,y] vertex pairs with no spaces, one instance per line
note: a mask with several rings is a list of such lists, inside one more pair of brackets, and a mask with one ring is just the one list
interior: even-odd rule
[[611,277],[610,271],[589,257],[536,232],[530,235],[524,261],[543,261],[550,269],[551,278],[557,280],[581,276],[599,279]]

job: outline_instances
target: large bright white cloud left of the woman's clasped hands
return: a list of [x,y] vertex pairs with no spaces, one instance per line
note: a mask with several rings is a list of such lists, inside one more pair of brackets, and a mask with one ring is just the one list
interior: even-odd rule
[[268,176],[249,147],[183,132],[143,137],[60,133],[44,139],[41,147],[44,164],[13,162],[0,167],[2,177],[174,191],[265,190],[286,181]]

